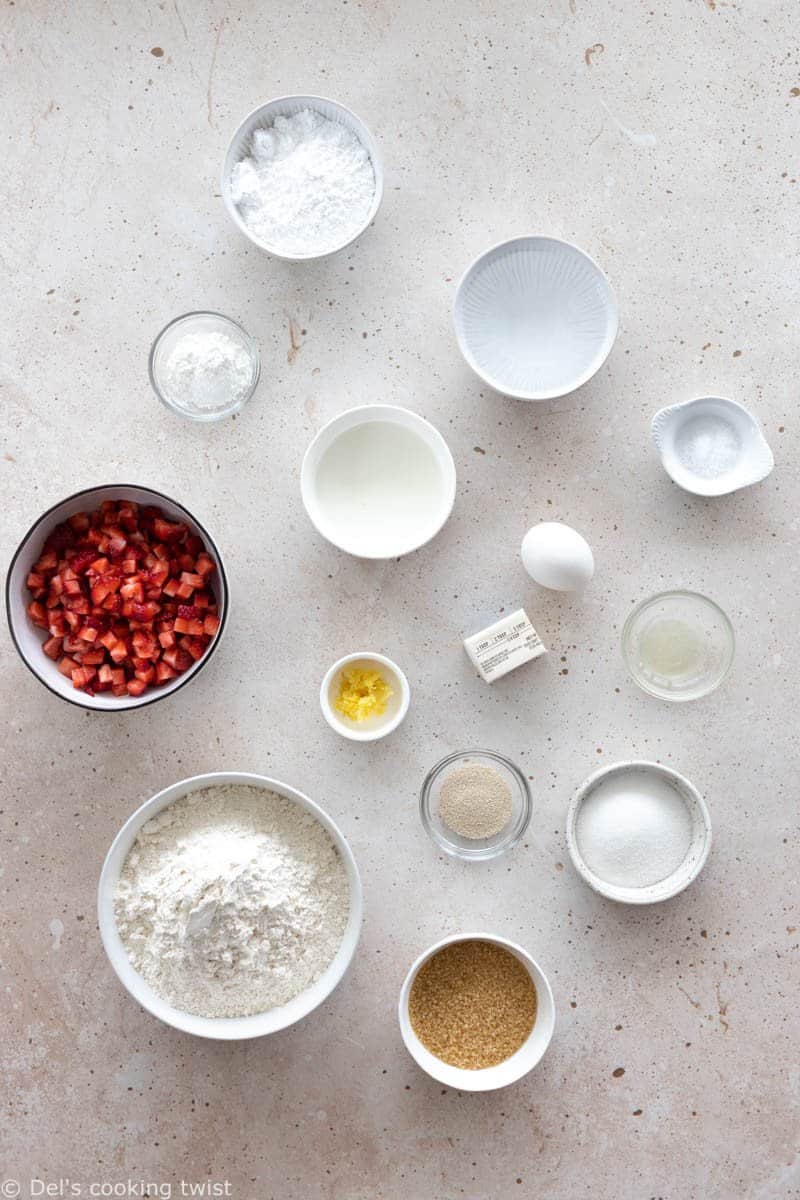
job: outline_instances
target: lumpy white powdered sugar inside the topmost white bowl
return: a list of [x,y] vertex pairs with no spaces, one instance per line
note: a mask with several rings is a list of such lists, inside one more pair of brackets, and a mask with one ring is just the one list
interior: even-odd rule
[[323,254],[354,238],[369,214],[375,173],[338,121],[303,108],[253,134],[230,175],[248,229],[282,254]]

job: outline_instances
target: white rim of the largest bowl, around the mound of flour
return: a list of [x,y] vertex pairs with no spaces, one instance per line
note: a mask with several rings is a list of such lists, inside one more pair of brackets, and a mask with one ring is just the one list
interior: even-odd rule
[[[342,962],[327,980],[326,990],[320,992],[309,1008],[300,1013],[297,1016],[283,1020],[273,1025],[273,1027],[266,1030],[251,1028],[248,1032],[240,1032],[242,1022],[247,1022],[249,1026],[258,1026],[259,1022],[266,1024],[266,1018],[279,1009],[267,1009],[265,1013],[254,1013],[251,1016],[245,1018],[198,1016],[197,1014],[186,1013],[182,1009],[175,1008],[168,1001],[162,1000],[146,983],[143,976],[139,974],[128,959],[119,936],[116,919],[114,917],[114,886],[119,878],[119,870],[114,871],[112,864],[118,848],[120,846],[127,846],[127,853],[130,853],[131,847],[136,841],[139,829],[151,818],[151,816],[155,816],[157,812],[168,808],[184,796],[203,787],[211,787],[215,784],[222,787],[236,786],[237,784],[241,784],[248,787],[260,787],[266,791],[275,791],[279,796],[283,796],[297,804],[299,808],[311,812],[312,816],[314,816],[323,828],[330,834],[331,840],[342,857],[342,862],[348,874],[348,882],[350,886],[350,910],[337,955],[341,953],[342,947],[344,947],[345,943],[349,942],[350,944],[347,946],[347,952]],[[125,859],[122,859],[122,863],[124,862]],[[97,884],[97,920],[101,941],[108,961],[114,970],[116,978],[134,1003],[140,1004],[144,1009],[146,1009],[146,1012],[150,1013],[151,1016],[157,1018],[163,1021],[163,1024],[169,1025],[173,1028],[181,1030],[184,1033],[191,1033],[196,1037],[216,1040],[247,1040],[257,1037],[269,1037],[271,1033],[278,1033],[281,1030],[296,1025],[299,1021],[305,1020],[309,1013],[313,1013],[315,1008],[323,1004],[336,990],[347,974],[359,946],[363,920],[363,888],[359,866],[347,838],[339,829],[336,821],[333,821],[325,809],[317,804],[315,800],[312,800],[311,797],[308,797],[305,792],[301,792],[300,788],[293,787],[290,784],[284,784],[282,780],[275,779],[270,775],[259,775],[253,772],[242,770],[215,770],[206,772],[200,775],[190,775],[187,779],[181,779],[175,784],[169,784],[167,787],[162,787],[161,791],[156,792],[155,796],[151,796],[148,800],[140,804],[126,818],[108,848],[100,872]],[[336,956],[331,960],[323,976],[320,976],[320,979],[324,978],[325,973],[331,970],[335,959]],[[317,980],[317,983],[319,983],[319,980]],[[142,994],[137,994],[137,991],[132,990],[132,985]],[[312,988],[306,989],[306,991],[309,991],[315,986],[317,984],[312,984]],[[294,1001],[302,995],[303,992],[300,992],[299,996],[289,1003],[294,1003]],[[283,1008],[285,1006],[281,1007]]]

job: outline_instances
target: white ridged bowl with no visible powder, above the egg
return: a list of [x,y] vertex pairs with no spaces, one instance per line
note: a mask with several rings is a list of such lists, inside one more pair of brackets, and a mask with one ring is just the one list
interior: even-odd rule
[[575,391],[603,365],[619,325],[595,260],[557,238],[513,238],[475,259],[456,293],[456,337],[473,371],[516,400]]

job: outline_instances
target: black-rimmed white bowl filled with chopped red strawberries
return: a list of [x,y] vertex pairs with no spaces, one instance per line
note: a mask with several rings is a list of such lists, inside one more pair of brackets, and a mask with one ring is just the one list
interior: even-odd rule
[[228,582],[213,539],[181,504],[149,487],[89,487],[28,530],[6,611],[46,688],[119,712],[197,677],[225,626]]

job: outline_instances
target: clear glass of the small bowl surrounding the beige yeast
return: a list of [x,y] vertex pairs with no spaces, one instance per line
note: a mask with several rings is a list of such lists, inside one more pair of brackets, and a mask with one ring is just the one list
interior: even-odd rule
[[[439,812],[439,792],[447,775],[458,767],[489,767],[511,788],[511,816],[499,833],[492,838],[463,838],[444,823]],[[422,784],[420,793],[420,817],[432,840],[453,858],[479,862],[497,858],[516,846],[530,821],[530,788],[518,767],[493,750],[457,750],[433,767]]]

